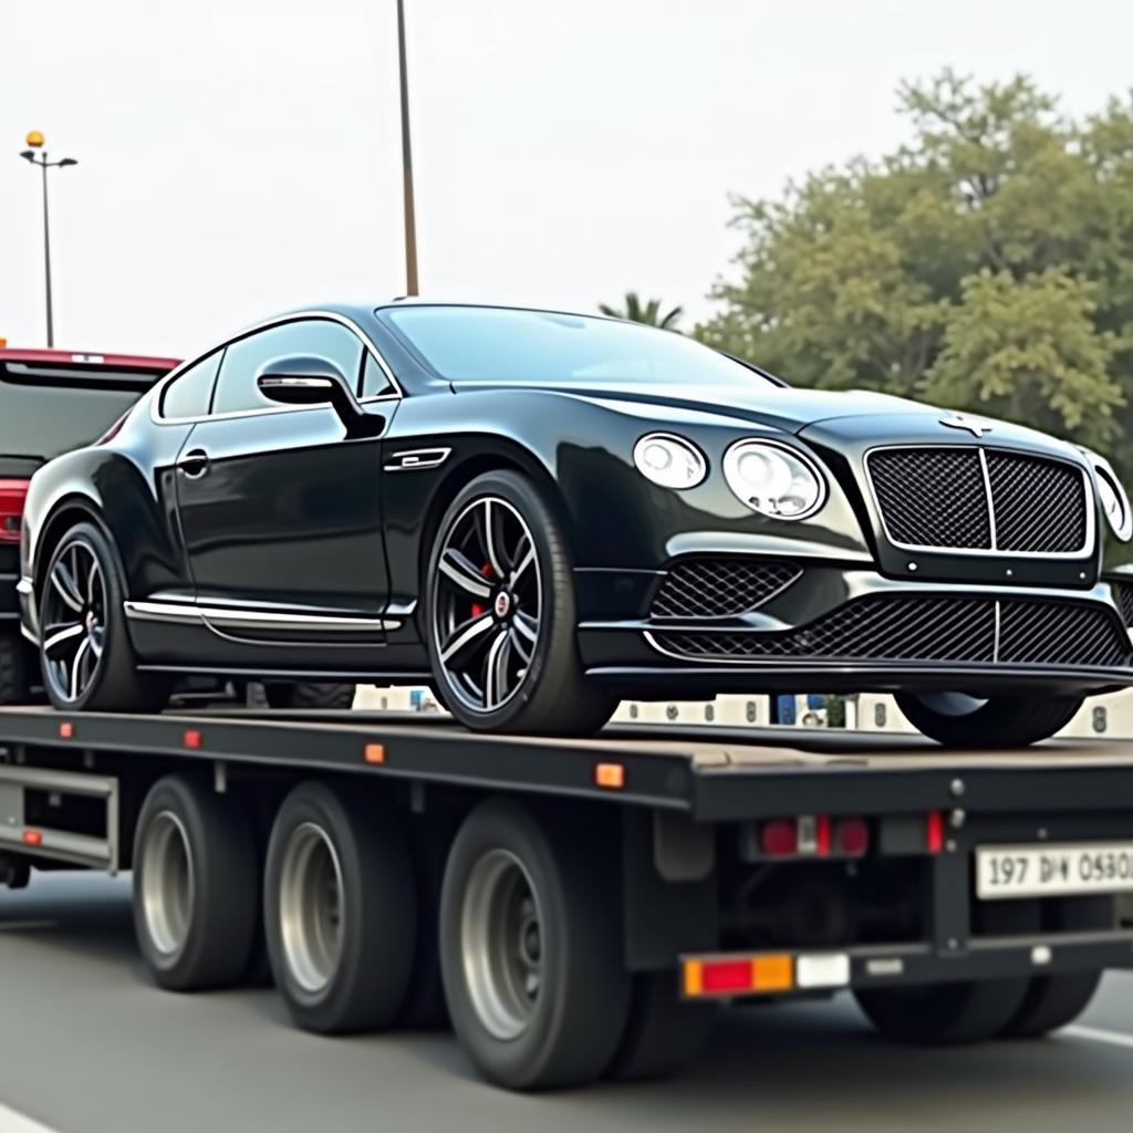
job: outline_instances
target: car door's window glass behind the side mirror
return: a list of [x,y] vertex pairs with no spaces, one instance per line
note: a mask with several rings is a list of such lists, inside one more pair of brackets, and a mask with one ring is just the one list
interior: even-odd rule
[[357,387],[363,346],[358,337],[341,323],[307,318],[297,323],[270,326],[229,344],[220,368],[214,414],[241,414],[252,409],[278,409],[256,389],[256,372],[273,358],[287,355],[315,355],[334,363],[351,389]]

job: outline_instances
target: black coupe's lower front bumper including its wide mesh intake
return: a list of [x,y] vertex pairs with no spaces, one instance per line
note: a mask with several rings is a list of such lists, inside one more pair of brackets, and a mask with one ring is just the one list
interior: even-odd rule
[[[923,585],[858,563],[796,565],[795,581],[733,616],[657,616],[664,571],[581,572],[583,666],[638,699],[776,689],[1082,693],[1133,684],[1133,603],[1121,600],[1117,579],[1081,589]],[[619,610],[623,616],[610,616]]]

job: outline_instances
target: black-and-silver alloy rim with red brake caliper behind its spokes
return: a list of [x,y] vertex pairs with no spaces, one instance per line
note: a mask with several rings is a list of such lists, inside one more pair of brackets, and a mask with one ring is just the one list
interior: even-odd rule
[[527,521],[482,496],[444,535],[432,595],[433,644],[445,684],[476,713],[497,712],[523,684],[543,629],[543,579]]

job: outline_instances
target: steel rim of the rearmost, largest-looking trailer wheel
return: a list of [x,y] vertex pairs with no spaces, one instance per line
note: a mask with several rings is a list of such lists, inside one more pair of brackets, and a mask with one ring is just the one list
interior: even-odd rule
[[484,1029],[508,1042],[530,1025],[544,982],[539,900],[523,863],[492,850],[472,867],[460,918],[465,983]]

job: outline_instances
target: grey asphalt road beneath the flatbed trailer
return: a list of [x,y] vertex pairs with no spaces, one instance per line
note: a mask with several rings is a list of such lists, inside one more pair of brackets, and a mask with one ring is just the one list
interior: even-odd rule
[[[54,875],[0,892],[2,1133],[459,1130],[1127,1130],[1133,974],[1087,1033],[957,1050],[892,1047],[852,1003],[732,1008],[662,1084],[516,1097],[448,1034],[322,1039],[274,994],[177,996],[137,959],[127,879]],[[1124,1037],[1124,1045],[1123,1045]]]

